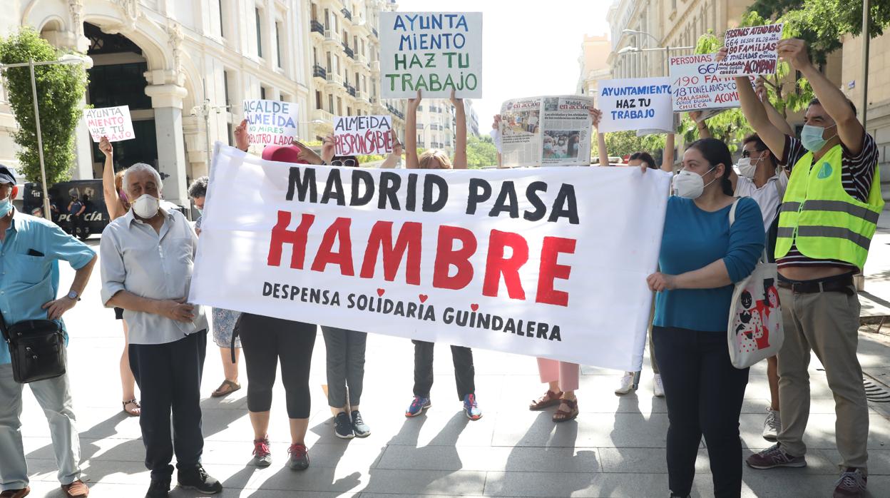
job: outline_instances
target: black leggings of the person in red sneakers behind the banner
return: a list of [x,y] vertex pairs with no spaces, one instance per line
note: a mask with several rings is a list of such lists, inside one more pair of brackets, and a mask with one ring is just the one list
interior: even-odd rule
[[280,360],[287,417],[308,419],[315,325],[249,313],[241,314],[240,320],[241,350],[247,364],[247,410],[270,410],[272,386]]

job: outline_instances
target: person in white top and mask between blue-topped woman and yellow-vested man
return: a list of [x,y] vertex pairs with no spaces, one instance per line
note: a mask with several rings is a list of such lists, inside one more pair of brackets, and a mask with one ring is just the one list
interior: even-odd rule
[[[766,88],[763,78],[757,81],[756,94],[764,103],[770,122],[781,129],[782,133],[794,136],[785,118],[782,118],[778,110],[773,108],[766,98]],[[699,121],[700,112],[691,112],[690,118],[698,123],[699,136],[708,138],[711,134],[704,121]],[[742,143],[741,159],[736,165],[738,171],[730,170],[730,181],[735,192],[735,197],[750,197],[757,201],[760,212],[764,216],[764,226],[767,234],[779,216],[779,206],[785,196],[788,187],[788,172],[779,167],[779,161],[773,152],[766,147],[763,140],[756,134],[749,135]],[[767,236],[766,253],[771,260],[775,252],[775,239]],[[778,318],[778,317],[776,317]],[[772,329],[772,327],[771,327]],[[770,385],[770,405],[766,408],[766,420],[764,421],[764,439],[775,441],[781,430],[779,419],[779,372],[776,357],[766,361],[766,379]]]

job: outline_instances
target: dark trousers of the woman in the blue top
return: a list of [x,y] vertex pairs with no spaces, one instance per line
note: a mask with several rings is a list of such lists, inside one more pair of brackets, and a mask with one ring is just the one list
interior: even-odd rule
[[667,402],[667,476],[670,490],[692,490],[702,435],[716,498],[741,495],[739,415],[748,369],[732,366],[726,332],[653,327],[655,355]]

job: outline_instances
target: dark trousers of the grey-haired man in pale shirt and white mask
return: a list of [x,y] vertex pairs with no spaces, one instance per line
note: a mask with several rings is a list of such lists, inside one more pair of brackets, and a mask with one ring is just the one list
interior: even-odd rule
[[130,369],[142,396],[139,426],[145,467],[151,470],[152,479],[173,475],[170,461],[174,453],[177,469],[190,469],[201,461],[200,387],[206,349],[207,331],[166,344],[130,345]]

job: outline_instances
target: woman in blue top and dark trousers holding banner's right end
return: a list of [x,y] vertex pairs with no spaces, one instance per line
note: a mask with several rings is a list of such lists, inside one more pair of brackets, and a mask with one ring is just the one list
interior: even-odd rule
[[764,221],[754,200],[729,212],[732,156],[713,138],[693,142],[667,201],[659,273],[647,278],[655,299],[652,339],[667,401],[671,496],[688,496],[702,435],[714,494],[741,494],[739,415],[748,369],[732,366],[726,323],[733,282],[746,278],[764,250]]

